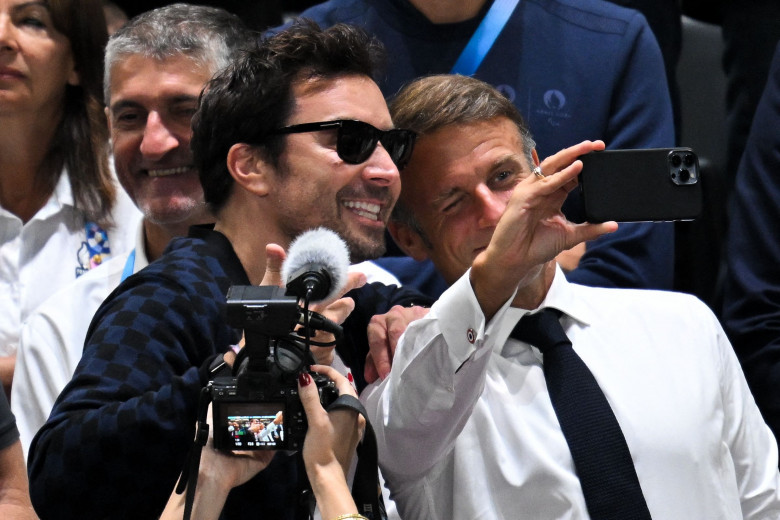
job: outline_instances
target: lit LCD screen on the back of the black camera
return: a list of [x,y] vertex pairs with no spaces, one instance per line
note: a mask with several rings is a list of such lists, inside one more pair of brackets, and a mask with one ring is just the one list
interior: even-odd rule
[[284,403],[230,403],[215,421],[223,446],[232,450],[275,449],[284,445]]

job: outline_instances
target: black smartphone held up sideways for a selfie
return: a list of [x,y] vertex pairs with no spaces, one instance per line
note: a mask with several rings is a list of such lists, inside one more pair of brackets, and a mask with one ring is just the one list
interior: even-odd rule
[[699,159],[690,148],[603,150],[580,160],[588,222],[693,220],[701,213]]

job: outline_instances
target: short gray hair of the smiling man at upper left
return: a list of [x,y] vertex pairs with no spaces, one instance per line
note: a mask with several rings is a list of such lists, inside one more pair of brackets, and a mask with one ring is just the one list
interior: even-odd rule
[[172,4],[142,13],[114,33],[106,46],[106,104],[111,94],[111,70],[124,57],[140,55],[165,61],[184,55],[211,67],[213,75],[253,36],[237,16],[216,7]]

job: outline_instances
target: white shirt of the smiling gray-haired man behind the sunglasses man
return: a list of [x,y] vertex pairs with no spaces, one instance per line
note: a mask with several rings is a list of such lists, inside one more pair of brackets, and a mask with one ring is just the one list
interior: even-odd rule
[[92,316],[119,285],[131,251],[135,251],[133,273],[149,263],[142,222],[136,225],[135,237],[135,249],[114,256],[51,295],[22,326],[11,410],[16,416],[25,458],[30,442],[73,376]]

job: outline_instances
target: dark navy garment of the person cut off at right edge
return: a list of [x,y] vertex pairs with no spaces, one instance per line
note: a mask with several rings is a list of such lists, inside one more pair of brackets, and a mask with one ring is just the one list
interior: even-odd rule
[[780,45],[735,182],[723,326],[780,438]]

